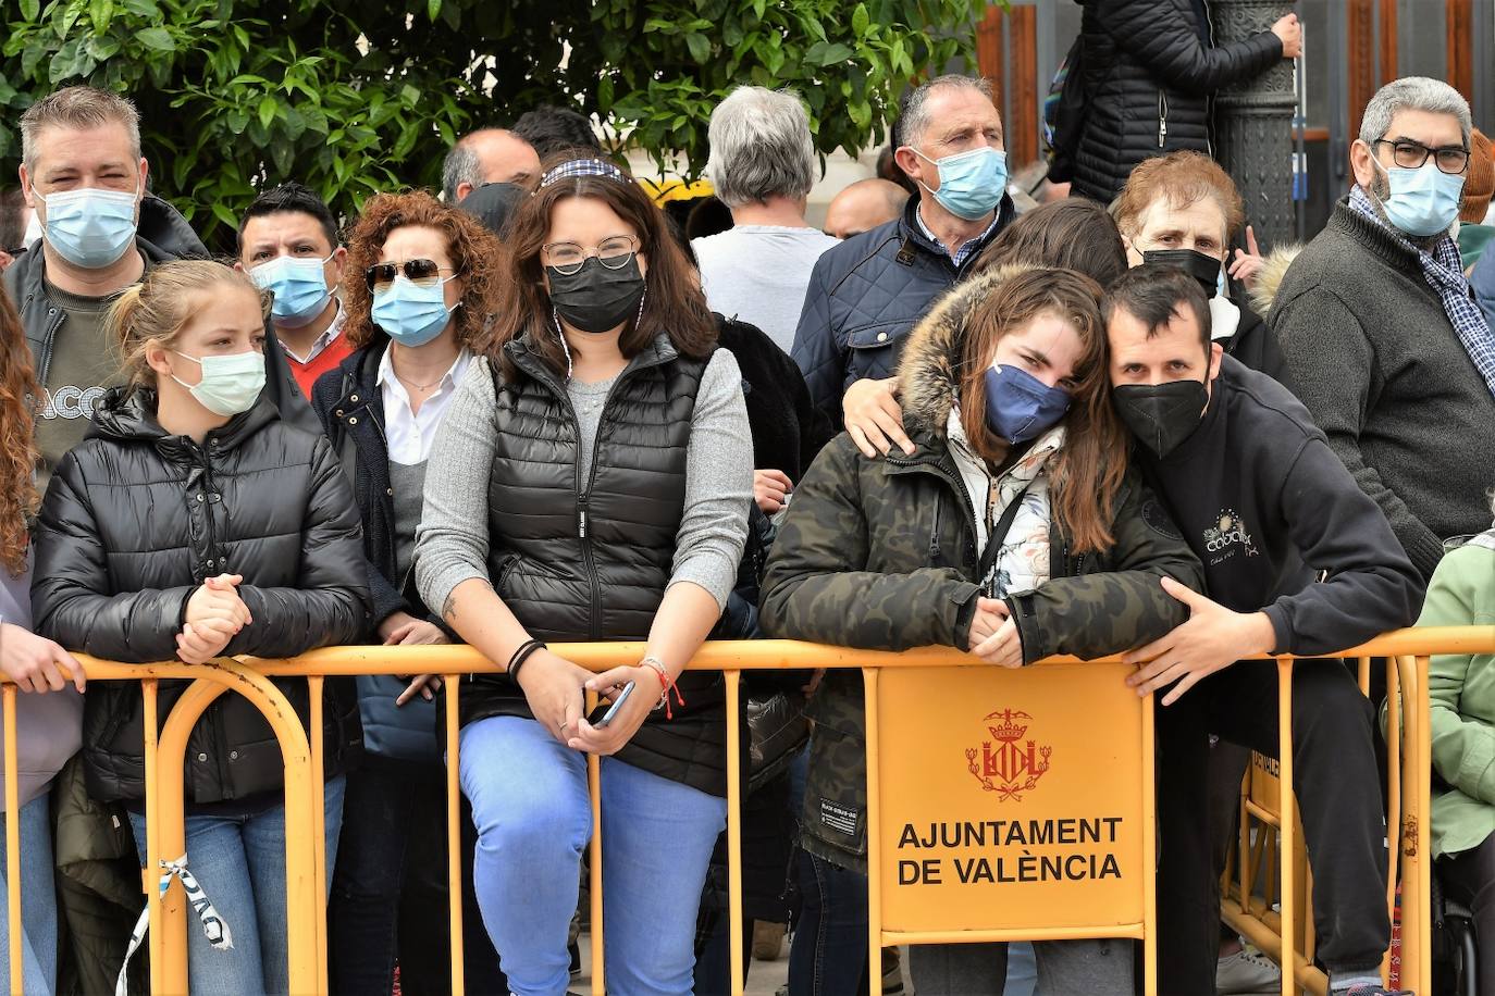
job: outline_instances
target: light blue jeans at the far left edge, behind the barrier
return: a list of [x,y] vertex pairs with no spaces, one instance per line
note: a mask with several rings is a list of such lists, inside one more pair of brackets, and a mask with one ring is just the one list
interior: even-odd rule
[[[21,962],[27,993],[51,996],[57,992],[57,891],[52,885],[52,821],[42,793],[21,806]],[[0,812],[0,847],[4,842],[6,814]],[[0,850],[0,989],[10,986],[10,945],[6,927],[10,896]]]

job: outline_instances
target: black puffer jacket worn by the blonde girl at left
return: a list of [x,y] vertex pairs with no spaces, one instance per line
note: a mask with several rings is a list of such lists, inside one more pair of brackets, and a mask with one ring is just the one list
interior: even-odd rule
[[[36,632],[118,662],[176,656],[187,599],[205,578],[241,573],[253,623],[226,654],[292,657],[359,639],[368,588],[359,514],[327,441],[281,421],[263,396],[199,445],[155,421],[154,391],[105,396],[90,438],[58,464],[36,530]],[[160,717],[187,688],[163,681]],[[306,682],[277,679],[306,723]],[[326,771],[359,750],[348,678],[326,682]],[[135,682],[88,685],[84,760],[100,800],[142,799],[144,715]],[[269,724],[226,694],[191,732],[187,799],[239,800],[284,778]]]

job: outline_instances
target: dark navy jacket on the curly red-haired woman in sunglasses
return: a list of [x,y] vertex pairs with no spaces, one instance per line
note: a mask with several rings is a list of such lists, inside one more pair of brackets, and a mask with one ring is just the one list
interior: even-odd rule
[[[368,569],[371,620],[375,627],[395,612],[408,612],[440,626],[414,587],[401,591],[395,569],[395,499],[389,482],[389,442],[384,436],[384,396],[375,382],[389,339],[354,351],[327,370],[311,390],[311,408],[321,420],[363,520],[363,558]],[[378,642],[374,633],[371,642]],[[405,682],[393,675],[359,675],[359,715],[363,747],[371,754],[399,760],[437,762],[437,709],[416,697],[402,706],[395,699]]]

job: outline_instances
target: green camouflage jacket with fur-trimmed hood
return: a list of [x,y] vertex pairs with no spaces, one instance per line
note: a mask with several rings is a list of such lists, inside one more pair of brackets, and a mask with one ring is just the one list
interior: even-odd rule
[[[764,578],[767,635],[867,650],[966,648],[979,554],[945,421],[963,320],[993,279],[957,290],[910,336],[900,379],[918,451],[869,460],[842,435],[800,482]],[[1202,569],[1135,472],[1127,473],[1115,509],[1109,550],[1075,553],[1054,524],[1051,579],[1006,599],[1026,662],[1126,651],[1187,618],[1159,578],[1200,590]],[[861,675],[828,672],[810,714],[816,726],[803,844],[836,865],[866,871]]]

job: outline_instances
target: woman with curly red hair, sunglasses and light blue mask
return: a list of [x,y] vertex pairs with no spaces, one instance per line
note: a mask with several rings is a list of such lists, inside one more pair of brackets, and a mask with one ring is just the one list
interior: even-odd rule
[[[369,199],[348,236],[342,300],[354,351],[317,379],[311,406],[363,520],[374,602],[365,639],[449,642],[411,581],[416,527],[431,443],[493,314],[501,257],[477,218],[425,191]],[[407,993],[450,992],[437,685],[360,675],[357,687],[365,754],[348,774],[332,880],[332,987],[389,993],[398,960]]]

